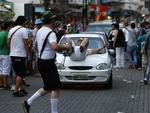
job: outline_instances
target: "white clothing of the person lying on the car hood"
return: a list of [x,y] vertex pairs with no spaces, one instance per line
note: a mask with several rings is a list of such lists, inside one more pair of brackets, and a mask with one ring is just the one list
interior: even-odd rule
[[90,54],[92,54],[92,49],[85,49],[83,52],[80,52],[80,46],[75,46],[74,52],[71,54],[70,59],[73,61],[82,61],[87,55]]

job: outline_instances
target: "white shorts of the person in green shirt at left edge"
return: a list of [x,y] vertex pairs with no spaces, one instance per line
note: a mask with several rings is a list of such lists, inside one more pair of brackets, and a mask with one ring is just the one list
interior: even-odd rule
[[11,59],[8,55],[0,55],[0,75],[10,75]]

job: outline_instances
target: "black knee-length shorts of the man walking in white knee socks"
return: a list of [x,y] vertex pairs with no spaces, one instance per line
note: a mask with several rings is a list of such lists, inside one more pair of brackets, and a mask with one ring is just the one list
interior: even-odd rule
[[44,82],[44,90],[59,89],[61,83],[54,60],[38,59],[37,65]]

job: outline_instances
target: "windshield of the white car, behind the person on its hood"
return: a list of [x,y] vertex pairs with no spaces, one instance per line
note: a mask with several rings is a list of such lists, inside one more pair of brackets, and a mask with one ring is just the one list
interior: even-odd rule
[[[77,46],[77,40],[79,39],[79,37],[73,37],[71,38],[73,41],[74,46]],[[102,48],[104,45],[104,42],[101,38],[93,38],[93,37],[88,37],[89,39],[89,46],[88,48],[90,49],[96,49],[96,48]],[[64,37],[61,41],[60,41],[60,45],[66,43],[66,38]],[[106,49],[102,49],[99,53],[105,53]]]

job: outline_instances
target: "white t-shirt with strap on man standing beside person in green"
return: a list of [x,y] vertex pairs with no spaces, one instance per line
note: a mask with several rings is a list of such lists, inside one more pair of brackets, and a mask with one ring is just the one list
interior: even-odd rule
[[[15,26],[10,29],[8,38],[12,35],[12,33],[21,26]],[[17,57],[26,57],[26,49],[24,46],[24,39],[28,39],[28,32],[26,28],[22,27],[18,29],[15,34],[11,38],[10,42],[10,56],[17,56]]]

